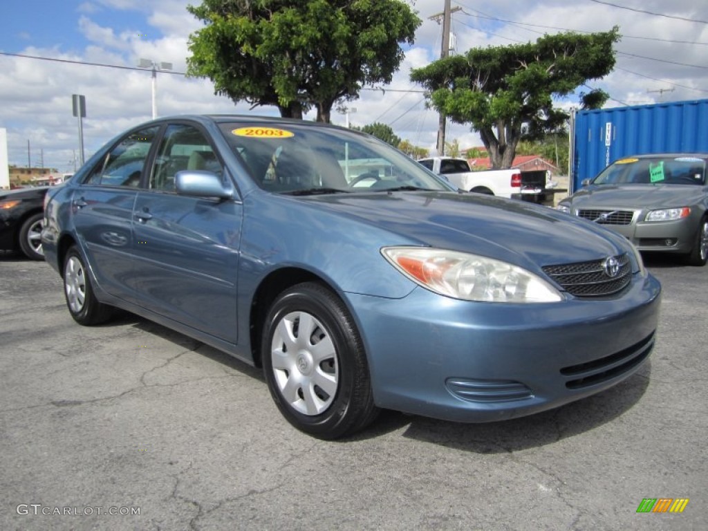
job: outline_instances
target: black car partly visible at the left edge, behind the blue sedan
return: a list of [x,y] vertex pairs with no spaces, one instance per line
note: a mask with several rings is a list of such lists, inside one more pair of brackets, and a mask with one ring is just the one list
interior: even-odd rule
[[0,249],[42,260],[43,205],[47,187],[0,190]]

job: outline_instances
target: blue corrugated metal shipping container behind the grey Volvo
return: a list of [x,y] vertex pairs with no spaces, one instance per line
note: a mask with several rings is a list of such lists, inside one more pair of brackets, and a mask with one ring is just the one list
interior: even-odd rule
[[624,156],[708,152],[708,100],[581,110],[572,149],[571,191]]

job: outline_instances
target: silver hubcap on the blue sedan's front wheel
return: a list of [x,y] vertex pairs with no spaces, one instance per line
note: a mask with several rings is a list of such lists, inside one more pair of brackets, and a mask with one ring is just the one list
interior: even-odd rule
[[280,319],[270,343],[280,394],[296,411],[319,415],[336,396],[339,369],[329,331],[307,312]]

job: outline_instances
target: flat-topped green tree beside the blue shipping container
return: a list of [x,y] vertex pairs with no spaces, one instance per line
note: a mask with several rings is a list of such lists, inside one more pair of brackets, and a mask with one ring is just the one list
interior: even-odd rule
[[[522,138],[556,130],[568,115],[554,108],[587,81],[615,66],[618,28],[602,33],[544,35],[535,43],[473,48],[414,69],[411,80],[430,91],[438,112],[479,132],[493,168],[509,168]],[[581,93],[583,108],[600,108],[602,90]]]

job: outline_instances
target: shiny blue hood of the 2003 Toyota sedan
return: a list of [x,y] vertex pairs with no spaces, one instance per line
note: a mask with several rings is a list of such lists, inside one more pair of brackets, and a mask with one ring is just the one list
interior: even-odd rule
[[621,236],[584,219],[489,195],[381,192],[301,199],[387,232],[387,245],[477,253],[532,269],[629,250]]

